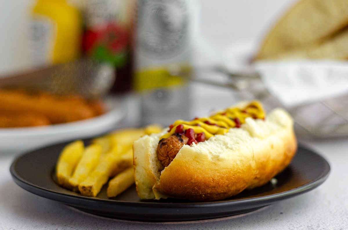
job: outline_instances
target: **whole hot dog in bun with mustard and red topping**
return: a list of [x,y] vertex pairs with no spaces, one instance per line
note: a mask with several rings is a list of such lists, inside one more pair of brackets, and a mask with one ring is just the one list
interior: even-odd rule
[[210,117],[178,120],[133,144],[141,199],[221,200],[269,182],[290,164],[297,142],[293,120],[259,101]]

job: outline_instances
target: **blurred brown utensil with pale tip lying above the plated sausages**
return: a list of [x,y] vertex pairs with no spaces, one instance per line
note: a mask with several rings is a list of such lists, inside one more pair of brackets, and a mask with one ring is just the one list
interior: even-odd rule
[[23,88],[95,98],[109,92],[115,77],[116,72],[112,66],[84,58],[29,72],[1,76],[0,88]]

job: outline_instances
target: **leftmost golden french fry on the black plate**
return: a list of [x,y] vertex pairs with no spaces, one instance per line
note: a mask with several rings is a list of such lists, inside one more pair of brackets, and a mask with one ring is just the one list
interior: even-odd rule
[[84,142],[74,141],[65,146],[58,158],[56,165],[56,175],[58,184],[65,188],[70,188],[69,179],[84,152]]

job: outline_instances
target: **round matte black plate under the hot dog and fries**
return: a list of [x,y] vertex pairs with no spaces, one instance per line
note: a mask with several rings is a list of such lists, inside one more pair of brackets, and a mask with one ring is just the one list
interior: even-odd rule
[[316,188],[330,172],[330,166],[324,158],[299,147],[292,163],[272,179],[272,183],[226,200],[204,203],[177,199],[144,201],[137,196],[135,186],[113,199],[106,196],[104,186],[98,196],[92,198],[61,188],[55,183],[55,164],[65,145],[48,146],[19,156],[10,168],[14,181],[33,194],[87,213],[124,220],[194,221],[251,212]]

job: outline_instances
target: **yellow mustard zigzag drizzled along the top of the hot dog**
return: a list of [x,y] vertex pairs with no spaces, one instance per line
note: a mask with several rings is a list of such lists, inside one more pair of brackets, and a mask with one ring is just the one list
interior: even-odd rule
[[[168,138],[175,133],[178,125],[183,125],[183,130],[193,129],[195,133],[204,133],[208,140],[213,135],[225,134],[230,128],[238,127],[245,123],[247,117],[254,119],[263,119],[266,113],[263,110],[261,102],[252,101],[245,108],[229,107],[226,110],[216,113],[211,117],[196,118],[192,121],[177,120],[173,123],[173,128],[164,134],[160,139]],[[239,120],[236,122],[236,120]]]

